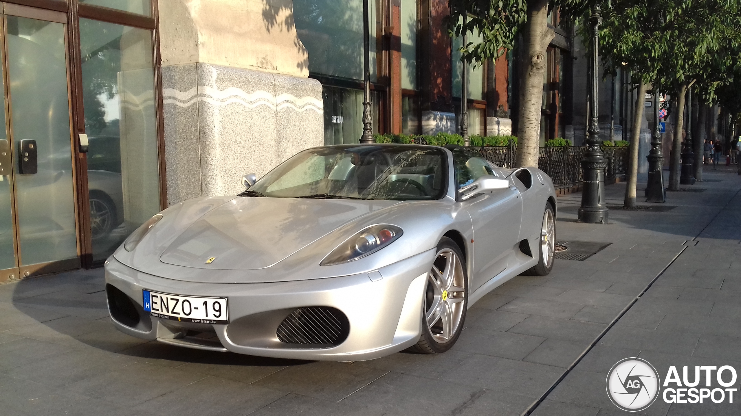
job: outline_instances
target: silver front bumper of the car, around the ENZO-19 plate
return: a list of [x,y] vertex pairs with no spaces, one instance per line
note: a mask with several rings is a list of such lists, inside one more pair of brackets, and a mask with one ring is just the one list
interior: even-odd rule
[[[434,249],[379,269],[382,279],[368,273],[262,284],[207,284],[177,281],[132,269],[111,256],[106,262],[106,283],[135,303],[142,320],[136,325],[116,319],[121,332],[138,338],[180,346],[240,354],[303,360],[370,360],[412,346],[419,340],[422,301]],[[375,276],[374,276],[375,277]],[[142,309],[142,290],[176,295],[228,298],[227,325],[185,323],[149,316]],[[276,328],[296,308],[330,306],[342,311],[350,323],[348,337],[337,346],[311,348],[282,343]],[[277,317],[277,321],[276,321]],[[185,337],[188,330],[214,332],[219,343],[201,343]],[[194,342],[195,341],[195,342]]]

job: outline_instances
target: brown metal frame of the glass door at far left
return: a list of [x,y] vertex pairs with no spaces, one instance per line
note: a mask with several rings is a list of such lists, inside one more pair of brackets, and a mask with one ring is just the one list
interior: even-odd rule
[[70,153],[71,153],[71,163],[72,163],[72,192],[73,192],[73,200],[78,200],[78,175],[77,175],[77,167],[76,167],[76,148],[75,148],[75,140],[74,140],[74,128],[73,128],[73,107],[72,107],[72,83],[70,80],[70,74],[71,74],[71,67],[70,67],[70,42],[69,42],[69,35],[67,33],[67,13],[62,13],[55,10],[47,10],[47,9],[39,9],[36,7],[29,7],[24,6],[21,4],[13,4],[13,3],[5,3],[0,2],[0,5],[2,6],[2,15],[0,19],[2,21],[0,25],[0,41],[2,46],[2,51],[0,53],[0,57],[2,58],[1,64],[3,66],[3,84],[4,84],[4,100],[5,100],[5,119],[6,119],[6,135],[7,140],[10,143],[10,159],[11,159],[11,169],[13,172],[8,175],[10,177],[10,186],[11,186],[11,192],[10,192],[10,207],[13,210],[13,234],[14,234],[14,250],[16,254],[16,267],[13,269],[4,269],[0,270],[0,282],[3,281],[10,281],[10,280],[16,280],[19,278],[26,278],[34,275],[44,275],[47,273],[52,272],[60,272],[62,270],[69,270],[69,269],[77,269],[80,267],[80,241],[82,235],[80,235],[80,215],[79,215],[79,207],[78,204],[73,204],[74,209],[74,217],[75,217],[75,235],[76,235],[76,258],[69,258],[64,259],[61,261],[50,261],[46,263],[40,263],[40,264],[28,264],[25,266],[21,266],[22,264],[22,253],[20,252],[20,241],[19,241],[19,233],[18,233],[18,209],[16,206],[16,200],[17,200],[17,188],[15,186],[15,175],[16,175],[16,167],[15,167],[15,159],[13,157],[14,153],[14,146],[13,146],[13,121],[12,121],[12,115],[13,115],[13,109],[11,107],[11,98],[10,98],[10,73],[9,73],[9,63],[8,63],[8,57],[7,57],[7,16],[17,16],[27,19],[36,19],[36,20],[42,20],[42,21],[52,21],[55,23],[63,24],[63,33],[64,33],[64,63],[66,68],[66,78],[67,78],[67,108],[68,108],[68,117],[69,117],[69,124],[70,124]]

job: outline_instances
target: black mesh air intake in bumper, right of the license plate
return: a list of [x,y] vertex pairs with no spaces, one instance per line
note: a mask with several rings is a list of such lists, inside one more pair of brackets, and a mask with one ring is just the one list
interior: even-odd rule
[[290,312],[278,326],[282,343],[336,346],[348,338],[350,323],[339,309],[307,306]]

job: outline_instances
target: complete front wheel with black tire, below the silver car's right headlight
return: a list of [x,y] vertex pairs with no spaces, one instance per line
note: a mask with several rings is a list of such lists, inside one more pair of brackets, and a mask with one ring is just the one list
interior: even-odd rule
[[[448,266],[450,265],[450,266]],[[449,295],[449,294],[453,295]],[[468,308],[468,275],[458,244],[443,237],[428,273],[422,304],[422,336],[413,352],[437,354],[448,351],[458,340]],[[433,322],[430,322],[434,320]]]

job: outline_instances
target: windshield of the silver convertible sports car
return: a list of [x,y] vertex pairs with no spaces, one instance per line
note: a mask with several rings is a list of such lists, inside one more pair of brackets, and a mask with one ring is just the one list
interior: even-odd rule
[[413,145],[305,150],[250,187],[276,198],[429,200],[445,192],[445,152]]

